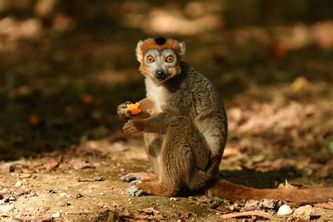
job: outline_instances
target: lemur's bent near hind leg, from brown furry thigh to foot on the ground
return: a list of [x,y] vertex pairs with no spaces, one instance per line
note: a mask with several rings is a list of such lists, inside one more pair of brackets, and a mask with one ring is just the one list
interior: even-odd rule
[[210,178],[205,172],[209,163],[202,162],[208,155],[207,143],[190,119],[173,117],[157,157],[159,181],[136,183],[129,194],[174,196],[181,188],[200,189]]

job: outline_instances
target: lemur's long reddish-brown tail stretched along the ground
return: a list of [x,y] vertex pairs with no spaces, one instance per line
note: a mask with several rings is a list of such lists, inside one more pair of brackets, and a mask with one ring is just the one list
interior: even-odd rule
[[208,190],[209,195],[227,200],[286,200],[297,203],[328,202],[333,200],[333,188],[310,189],[255,189],[244,185],[237,185],[229,181],[217,181]]

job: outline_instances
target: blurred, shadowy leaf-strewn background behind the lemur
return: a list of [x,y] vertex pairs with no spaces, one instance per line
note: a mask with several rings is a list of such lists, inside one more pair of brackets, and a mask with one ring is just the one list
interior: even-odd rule
[[332,12],[332,0],[0,0],[0,160],[126,139],[116,107],[145,96],[136,43],[164,36],[220,91],[229,148],[325,162]]

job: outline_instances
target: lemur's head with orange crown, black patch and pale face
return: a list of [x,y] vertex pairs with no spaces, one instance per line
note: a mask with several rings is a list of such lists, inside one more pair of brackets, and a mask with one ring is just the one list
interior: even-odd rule
[[139,70],[145,77],[159,82],[171,79],[181,72],[180,62],[185,55],[185,43],[157,37],[138,41],[136,57]]

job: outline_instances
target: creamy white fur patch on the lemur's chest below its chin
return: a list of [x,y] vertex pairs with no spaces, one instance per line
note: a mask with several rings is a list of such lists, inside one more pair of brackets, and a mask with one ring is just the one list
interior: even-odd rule
[[145,89],[147,91],[147,98],[152,100],[156,107],[157,112],[162,111],[162,106],[165,104],[165,93],[167,93],[164,86],[156,84],[152,79],[146,78],[145,79]]

